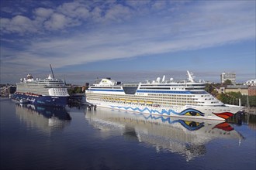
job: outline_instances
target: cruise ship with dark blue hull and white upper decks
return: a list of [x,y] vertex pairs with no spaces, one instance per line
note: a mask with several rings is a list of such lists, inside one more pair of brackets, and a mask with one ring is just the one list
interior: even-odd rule
[[51,75],[43,80],[35,80],[28,74],[20,83],[16,83],[16,86],[16,93],[12,94],[12,99],[26,100],[29,104],[64,107],[69,97],[64,80],[55,79]]

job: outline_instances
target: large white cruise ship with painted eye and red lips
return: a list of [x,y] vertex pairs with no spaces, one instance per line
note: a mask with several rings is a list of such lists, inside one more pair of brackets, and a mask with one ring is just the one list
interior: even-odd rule
[[137,85],[103,78],[85,90],[86,101],[110,109],[211,120],[226,120],[244,110],[223,104],[204,90],[206,83],[187,73],[188,80],[165,80],[163,76]]

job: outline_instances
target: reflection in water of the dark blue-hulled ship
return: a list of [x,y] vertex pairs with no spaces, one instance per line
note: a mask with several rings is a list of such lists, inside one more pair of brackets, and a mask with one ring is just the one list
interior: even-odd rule
[[16,115],[27,127],[51,132],[70,124],[71,116],[64,107],[43,107],[33,104],[16,104]]

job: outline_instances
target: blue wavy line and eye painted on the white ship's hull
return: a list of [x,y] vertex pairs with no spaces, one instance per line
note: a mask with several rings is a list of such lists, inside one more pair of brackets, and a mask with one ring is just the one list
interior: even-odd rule
[[119,107],[119,106],[110,106],[110,107],[112,107],[112,108],[116,108],[117,107],[119,109],[124,109],[124,110],[131,109],[133,111],[138,111],[138,112],[142,112],[142,113],[147,110],[150,114],[161,114],[161,115],[168,114],[169,116],[171,114],[177,114],[179,116],[182,116],[182,115],[185,115],[185,114],[188,114],[188,113],[191,114],[191,116],[196,116],[196,114],[199,114],[200,116],[204,116],[204,114],[201,111],[195,110],[195,109],[190,109],[190,108],[189,109],[185,109],[182,112],[178,113],[178,112],[175,112],[175,110],[171,110],[171,109],[169,109],[168,111],[162,109],[161,112],[160,112],[158,110],[149,109],[147,107],[145,107],[143,110],[141,110],[139,107],[135,107],[135,108],[133,108],[133,107]]

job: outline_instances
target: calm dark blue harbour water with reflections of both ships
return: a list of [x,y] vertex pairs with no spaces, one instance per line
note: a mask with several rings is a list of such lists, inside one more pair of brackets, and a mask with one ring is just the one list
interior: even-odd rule
[[256,169],[255,116],[228,124],[0,104],[1,169]]

